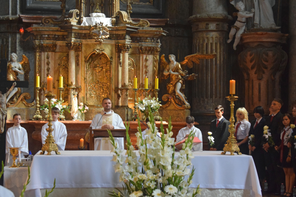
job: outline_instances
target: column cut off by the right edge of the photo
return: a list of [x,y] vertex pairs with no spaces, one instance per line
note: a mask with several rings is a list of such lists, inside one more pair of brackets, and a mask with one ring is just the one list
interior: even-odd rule
[[296,100],[296,1],[289,0],[289,112]]

